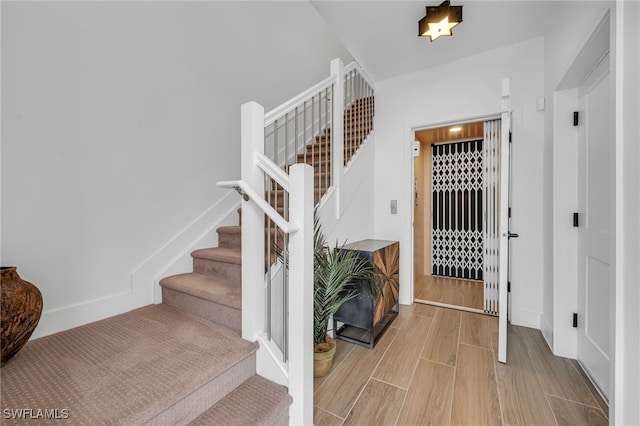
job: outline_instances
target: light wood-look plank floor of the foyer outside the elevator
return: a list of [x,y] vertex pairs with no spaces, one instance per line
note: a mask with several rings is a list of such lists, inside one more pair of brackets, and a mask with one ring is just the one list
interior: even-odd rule
[[497,362],[497,318],[401,305],[373,350],[338,341],[331,373],[314,382],[322,425],[606,425],[608,408],[538,330],[509,326]]

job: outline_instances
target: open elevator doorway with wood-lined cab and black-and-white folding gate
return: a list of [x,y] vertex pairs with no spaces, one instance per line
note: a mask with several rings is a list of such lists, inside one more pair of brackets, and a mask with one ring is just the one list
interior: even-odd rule
[[414,132],[414,300],[484,312],[484,121]]

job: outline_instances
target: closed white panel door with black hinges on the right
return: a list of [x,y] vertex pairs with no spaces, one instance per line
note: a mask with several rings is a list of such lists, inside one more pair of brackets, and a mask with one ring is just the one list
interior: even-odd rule
[[611,178],[609,60],[579,91],[578,124],[578,361],[609,395]]

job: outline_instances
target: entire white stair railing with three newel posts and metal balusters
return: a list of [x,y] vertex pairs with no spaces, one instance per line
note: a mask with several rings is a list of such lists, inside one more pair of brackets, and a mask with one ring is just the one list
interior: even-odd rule
[[242,337],[260,341],[258,373],[288,385],[292,424],[313,423],[313,206],[335,192],[341,216],[345,165],[372,130],[371,83],[335,59],[328,78],[267,114],[242,106],[241,180],[218,184],[245,200]]

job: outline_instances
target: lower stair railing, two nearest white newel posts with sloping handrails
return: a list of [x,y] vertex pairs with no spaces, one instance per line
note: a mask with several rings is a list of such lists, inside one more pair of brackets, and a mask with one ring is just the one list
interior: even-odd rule
[[[259,341],[261,349],[270,351],[266,306],[271,295],[265,283],[265,215],[288,235],[288,277],[294,285],[285,289],[287,304],[288,360],[286,365],[289,393],[294,402],[289,410],[294,424],[313,423],[313,169],[306,164],[289,168],[289,174],[264,156],[264,108],[248,102],[242,105],[241,179],[219,182],[234,188],[242,203],[242,337]],[[289,193],[289,218],[285,219],[264,197],[265,176]],[[261,355],[258,354],[258,357]],[[272,378],[268,366],[257,362],[257,372]],[[277,378],[276,378],[277,380]]]

